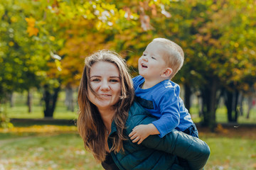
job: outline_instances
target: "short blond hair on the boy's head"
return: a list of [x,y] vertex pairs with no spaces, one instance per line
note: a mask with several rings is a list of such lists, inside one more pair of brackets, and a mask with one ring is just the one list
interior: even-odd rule
[[173,78],[183,65],[184,52],[182,48],[175,42],[167,40],[166,38],[155,38],[152,42],[159,42],[164,47],[164,60],[166,60],[168,67],[173,70],[170,76]]

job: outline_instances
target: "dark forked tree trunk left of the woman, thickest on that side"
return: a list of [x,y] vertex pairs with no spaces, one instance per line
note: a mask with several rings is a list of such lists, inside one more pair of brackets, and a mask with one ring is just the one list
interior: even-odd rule
[[45,102],[44,108],[44,117],[45,118],[53,118],[53,113],[55,110],[56,102],[58,100],[58,93],[60,91],[60,86],[57,88],[53,88],[53,91],[50,91],[50,87],[48,85],[44,86],[44,95],[43,101]]

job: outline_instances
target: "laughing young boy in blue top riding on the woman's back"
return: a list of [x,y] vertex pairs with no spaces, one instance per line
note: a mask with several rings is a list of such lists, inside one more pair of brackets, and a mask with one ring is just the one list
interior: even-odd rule
[[180,87],[171,81],[183,60],[183,50],[171,40],[156,38],[147,45],[139,58],[139,76],[133,78],[134,91],[137,101],[159,119],[135,127],[129,134],[132,142],[140,144],[149,135],[164,137],[174,128],[198,137],[196,125],[179,97]]

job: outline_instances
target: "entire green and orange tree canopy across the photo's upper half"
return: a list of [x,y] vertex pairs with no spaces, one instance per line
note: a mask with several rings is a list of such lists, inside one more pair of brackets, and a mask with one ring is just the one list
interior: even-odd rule
[[84,58],[97,50],[119,52],[136,71],[157,37],[183,47],[184,66],[174,81],[212,91],[208,112],[217,98],[209,89],[213,79],[215,91],[256,88],[252,0],[0,2],[0,100],[33,86],[78,86]]

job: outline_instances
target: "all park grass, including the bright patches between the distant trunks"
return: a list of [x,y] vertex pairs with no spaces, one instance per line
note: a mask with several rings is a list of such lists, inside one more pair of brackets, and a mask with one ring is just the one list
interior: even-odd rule
[[[35,94],[38,95],[38,94]],[[54,113],[55,119],[74,120],[75,111],[67,111],[64,104],[65,94],[60,98]],[[38,96],[34,96],[32,113],[28,113],[26,95],[16,94],[15,106],[9,103],[1,109],[9,118],[43,118],[43,107]],[[247,108],[245,106],[245,111]],[[193,121],[198,123],[198,108],[191,108]],[[225,107],[216,112],[218,123],[227,123]],[[238,119],[238,128],[218,127],[216,133],[198,128],[199,136],[210,146],[211,154],[206,170],[255,170],[256,169],[256,128],[245,128],[243,123],[256,123],[256,108],[250,113],[250,119],[242,115]],[[239,125],[241,124],[241,125]],[[102,169],[92,154],[86,152],[83,142],[72,123],[50,123],[50,121],[14,122],[14,128],[8,131],[0,128],[0,170],[95,170]]]

